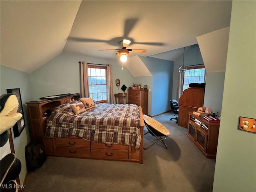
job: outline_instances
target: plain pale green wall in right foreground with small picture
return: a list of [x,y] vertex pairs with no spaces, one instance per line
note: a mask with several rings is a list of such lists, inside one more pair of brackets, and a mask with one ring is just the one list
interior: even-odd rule
[[256,1],[233,1],[214,174],[214,192],[256,191],[256,134],[238,130],[256,118]]

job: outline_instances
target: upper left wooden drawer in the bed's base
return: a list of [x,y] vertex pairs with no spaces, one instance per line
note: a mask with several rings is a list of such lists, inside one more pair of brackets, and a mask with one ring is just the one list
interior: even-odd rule
[[55,138],[56,146],[90,148],[90,141],[79,138]]

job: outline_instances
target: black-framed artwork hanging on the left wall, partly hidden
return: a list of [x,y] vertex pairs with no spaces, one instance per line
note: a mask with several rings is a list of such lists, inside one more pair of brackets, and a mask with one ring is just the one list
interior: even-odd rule
[[16,95],[18,102],[19,102],[19,107],[18,111],[19,113],[22,114],[22,118],[16,122],[13,126],[13,134],[14,137],[20,136],[21,132],[25,128],[25,120],[24,120],[24,112],[23,112],[23,107],[22,107],[22,101],[21,101],[21,96],[20,96],[20,88],[15,88],[15,89],[7,89],[7,93],[12,93]]

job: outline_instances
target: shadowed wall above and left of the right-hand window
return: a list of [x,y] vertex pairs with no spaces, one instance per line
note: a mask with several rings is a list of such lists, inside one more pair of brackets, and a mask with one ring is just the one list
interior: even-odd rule
[[[182,66],[183,54],[174,61],[172,99],[177,99],[179,67]],[[203,64],[203,59],[198,44],[185,48],[184,66]]]

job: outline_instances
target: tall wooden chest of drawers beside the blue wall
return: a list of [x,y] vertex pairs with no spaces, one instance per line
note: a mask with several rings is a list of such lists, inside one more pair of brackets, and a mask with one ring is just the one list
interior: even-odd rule
[[143,114],[148,114],[148,90],[128,89],[128,103],[141,106]]

